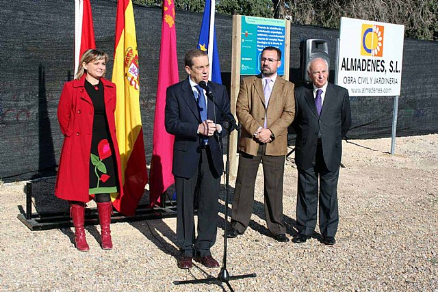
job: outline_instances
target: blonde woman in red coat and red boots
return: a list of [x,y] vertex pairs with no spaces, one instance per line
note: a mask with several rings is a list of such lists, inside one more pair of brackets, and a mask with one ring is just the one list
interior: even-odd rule
[[70,202],[75,245],[81,251],[90,249],[83,221],[92,198],[99,211],[101,247],[112,249],[110,194],[123,192],[114,121],[116,85],[103,79],[107,61],[101,51],[83,53],[76,79],[65,83],[57,108],[64,144],[55,195]]

